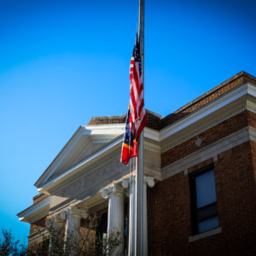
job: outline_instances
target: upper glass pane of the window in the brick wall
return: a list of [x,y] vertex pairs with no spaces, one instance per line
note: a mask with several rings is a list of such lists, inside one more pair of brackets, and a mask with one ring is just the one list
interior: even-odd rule
[[214,171],[195,177],[197,208],[216,201]]

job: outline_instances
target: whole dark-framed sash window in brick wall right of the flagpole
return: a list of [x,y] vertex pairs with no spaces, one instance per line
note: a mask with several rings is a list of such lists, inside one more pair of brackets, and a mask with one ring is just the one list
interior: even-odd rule
[[218,209],[213,165],[189,175],[192,235],[218,228]]

